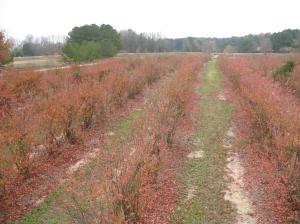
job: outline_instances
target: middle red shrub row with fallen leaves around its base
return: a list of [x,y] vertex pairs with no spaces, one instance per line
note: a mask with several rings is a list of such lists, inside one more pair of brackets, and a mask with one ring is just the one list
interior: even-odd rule
[[[172,179],[174,176],[170,174],[170,170],[162,175],[159,172],[161,166],[170,166],[172,162],[180,161],[178,156],[182,155],[182,151],[174,154],[169,152],[179,150],[172,146],[174,136],[180,123],[191,113],[190,102],[196,94],[194,83],[206,60],[206,57],[198,56],[180,58],[175,74],[165,79],[146,105],[145,114],[132,124],[133,131],[126,139],[122,138],[116,148],[102,152],[98,161],[100,167],[94,169],[92,178],[84,183],[84,186],[88,185],[89,196],[82,193],[82,188],[86,187],[77,189],[76,186],[80,183],[76,180],[72,183],[68,190],[73,193],[76,201],[84,201],[88,206],[87,214],[81,215],[74,201],[67,202],[67,206],[77,211],[73,217],[77,222],[101,220],[113,223],[145,223],[146,217],[151,216],[148,220],[151,222],[155,217],[161,217],[158,213],[162,211],[164,218],[160,221],[169,219],[176,202],[175,182]],[[156,72],[150,73],[153,74]],[[138,77],[143,80],[143,77]],[[167,161],[171,159],[168,154],[172,154],[173,161]],[[99,170],[103,170],[101,175]],[[154,186],[158,192],[152,192],[151,187]],[[174,191],[169,193],[165,188],[168,186],[174,187]],[[157,193],[162,197],[163,205],[155,203],[149,197],[159,197]],[[101,200],[106,206],[97,205],[94,198]]]

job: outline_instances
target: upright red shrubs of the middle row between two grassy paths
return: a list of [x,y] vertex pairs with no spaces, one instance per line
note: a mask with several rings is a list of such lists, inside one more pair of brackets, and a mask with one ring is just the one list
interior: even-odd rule
[[[150,202],[151,199],[143,194],[149,193],[149,187],[157,183],[159,167],[165,159],[162,156],[166,149],[171,149],[178,125],[190,113],[188,104],[195,94],[191,86],[205,59],[196,56],[182,59],[174,77],[158,89],[156,99],[149,103],[144,117],[134,124],[131,142],[113,152],[114,162],[107,167],[110,174],[107,178],[107,200],[118,222],[145,222],[142,216],[145,218],[145,211],[151,209],[145,200]],[[170,180],[164,181],[170,184]],[[174,200],[166,200],[165,203],[174,206]],[[163,209],[167,210],[166,215],[170,215],[168,205]]]

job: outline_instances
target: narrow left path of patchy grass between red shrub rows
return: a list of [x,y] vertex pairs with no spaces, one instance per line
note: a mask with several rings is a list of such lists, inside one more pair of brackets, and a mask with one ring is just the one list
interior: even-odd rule
[[[173,76],[173,73],[170,74]],[[135,121],[141,119],[144,116],[146,105],[153,100],[156,100],[159,95],[157,95],[157,89],[161,89],[164,85],[169,81],[168,78],[161,80],[157,83],[158,86],[150,89],[147,94],[145,94],[144,100],[141,102],[137,108],[132,110],[125,119],[121,119],[116,123],[112,124],[112,130],[106,135],[108,139],[101,141],[98,143],[97,148],[101,149],[101,151],[110,151],[112,148],[121,148],[122,144],[126,144],[128,138],[132,132],[134,132],[134,124]],[[98,155],[97,155],[98,156]],[[77,163],[76,163],[77,164]],[[75,166],[76,166],[75,164]],[[76,211],[73,208],[63,208],[66,207],[61,203],[65,200],[72,200],[72,193],[69,192],[70,181],[75,180],[78,183],[78,187],[76,186],[76,190],[79,192],[88,191],[87,184],[89,180],[93,178],[91,173],[94,173],[95,170],[98,170],[97,175],[103,176],[101,172],[102,169],[99,169],[99,161],[97,157],[90,158],[88,161],[84,162],[83,165],[76,167],[74,172],[72,172],[70,180],[62,183],[57,189],[51,192],[37,207],[31,210],[27,215],[21,218],[18,221],[11,222],[11,224],[58,224],[58,223],[73,223],[73,214]],[[72,166],[73,167],[73,166]],[[88,193],[86,195],[88,199]],[[71,199],[70,199],[71,198]]]

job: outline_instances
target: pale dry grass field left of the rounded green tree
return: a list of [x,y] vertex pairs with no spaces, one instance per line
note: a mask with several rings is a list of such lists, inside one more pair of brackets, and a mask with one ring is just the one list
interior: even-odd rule
[[33,56],[33,57],[15,57],[9,64],[14,68],[51,68],[64,65],[60,55],[51,56]]

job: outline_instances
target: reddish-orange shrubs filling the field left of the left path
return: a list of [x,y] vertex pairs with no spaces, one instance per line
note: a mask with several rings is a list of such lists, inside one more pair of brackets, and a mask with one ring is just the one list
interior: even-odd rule
[[[145,81],[153,76],[153,66],[160,78],[176,62],[176,56],[166,56],[110,59],[46,72],[7,70],[0,80],[2,159],[11,158],[8,167],[29,176],[29,158],[42,156],[43,148],[51,155],[63,142],[77,143],[85,129],[103,122],[106,114],[156,80]],[[7,176],[3,172],[1,179]]]

